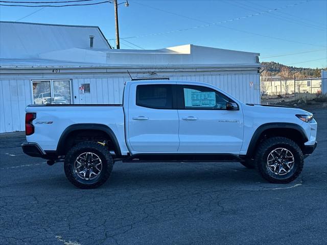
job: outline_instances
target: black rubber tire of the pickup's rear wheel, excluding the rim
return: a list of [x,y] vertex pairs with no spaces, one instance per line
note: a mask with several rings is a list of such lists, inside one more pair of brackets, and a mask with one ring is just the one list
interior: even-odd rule
[[[97,154],[102,161],[102,169],[98,177],[92,180],[83,180],[77,176],[74,171],[74,163],[76,158],[83,152],[91,152]],[[76,187],[81,189],[97,188],[105,183],[112,171],[113,160],[106,146],[95,141],[80,142],[70,149],[64,162],[64,170],[67,179]]]

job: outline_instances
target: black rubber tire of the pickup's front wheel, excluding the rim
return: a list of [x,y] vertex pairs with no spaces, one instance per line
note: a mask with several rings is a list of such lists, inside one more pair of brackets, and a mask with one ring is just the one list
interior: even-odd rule
[[[294,157],[294,166],[286,175],[276,175],[272,173],[267,166],[269,153],[276,148],[285,148],[289,150]],[[285,137],[272,137],[260,143],[254,156],[254,165],[259,170],[261,176],[271,183],[286,184],[295,180],[303,169],[303,153],[298,144]]]

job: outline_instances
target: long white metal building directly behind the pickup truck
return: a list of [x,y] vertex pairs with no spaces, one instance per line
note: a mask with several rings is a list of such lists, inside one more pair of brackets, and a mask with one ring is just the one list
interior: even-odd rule
[[28,104],[120,104],[127,70],[133,78],[207,82],[260,103],[259,68],[258,53],[192,44],[113,50],[98,27],[2,21],[0,133],[25,130]]

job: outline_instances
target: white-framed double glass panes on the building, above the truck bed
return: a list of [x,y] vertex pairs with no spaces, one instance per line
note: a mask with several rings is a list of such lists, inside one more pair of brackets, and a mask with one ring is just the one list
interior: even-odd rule
[[33,104],[72,104],[71,80],[32,81]]

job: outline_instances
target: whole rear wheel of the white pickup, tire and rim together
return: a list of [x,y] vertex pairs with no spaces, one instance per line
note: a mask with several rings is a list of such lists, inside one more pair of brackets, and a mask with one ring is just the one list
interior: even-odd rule
[[108,149],[95,142],[85,141],[73,146],[65,156],[67,179],[82,189],[96,188],[107,181],[113,166]]

